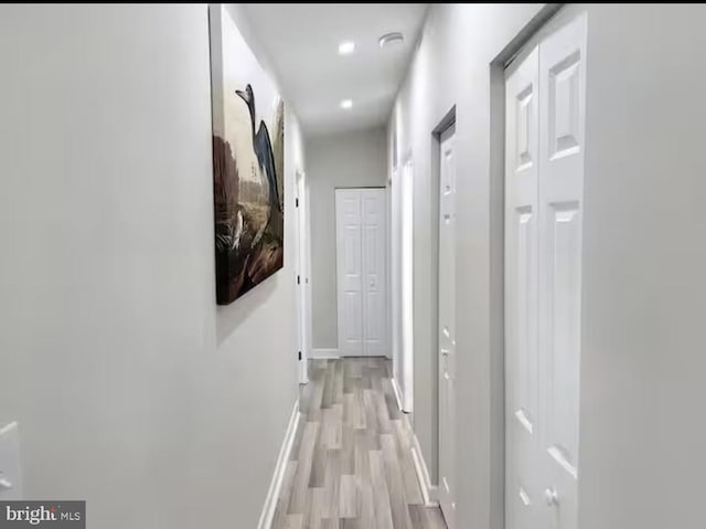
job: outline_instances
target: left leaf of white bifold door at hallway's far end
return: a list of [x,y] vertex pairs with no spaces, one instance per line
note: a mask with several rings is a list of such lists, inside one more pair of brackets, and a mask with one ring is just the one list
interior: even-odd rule
[[363,355],[361,192],[335,190],[339,351]]

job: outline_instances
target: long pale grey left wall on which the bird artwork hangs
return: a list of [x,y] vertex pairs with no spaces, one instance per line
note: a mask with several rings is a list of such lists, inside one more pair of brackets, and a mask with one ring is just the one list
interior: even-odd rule
[[255,527],[297,399],[293,247],[216,309],[206,6],[3,6],[0,64],[0,424],[25,497],[104,529]]

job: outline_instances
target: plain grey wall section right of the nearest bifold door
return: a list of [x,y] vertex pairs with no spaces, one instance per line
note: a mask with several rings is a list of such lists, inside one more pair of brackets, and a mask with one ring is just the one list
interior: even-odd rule
[[704,6],[588,6],[580,529],[704,527]]

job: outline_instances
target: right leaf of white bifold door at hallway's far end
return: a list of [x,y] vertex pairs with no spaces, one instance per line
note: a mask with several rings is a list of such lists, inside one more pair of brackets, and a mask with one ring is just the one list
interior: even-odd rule
[[384,188],[362,189],[363,353],[387,351],[387,195]]

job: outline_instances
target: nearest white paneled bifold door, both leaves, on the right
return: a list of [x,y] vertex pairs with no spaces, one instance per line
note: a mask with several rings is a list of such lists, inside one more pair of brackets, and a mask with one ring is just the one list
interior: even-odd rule
[[506,72],[506,527],[577,528],[586,18]]

